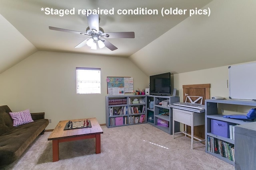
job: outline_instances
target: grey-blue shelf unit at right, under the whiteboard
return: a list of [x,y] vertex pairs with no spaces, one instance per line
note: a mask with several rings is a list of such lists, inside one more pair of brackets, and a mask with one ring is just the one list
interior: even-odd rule
[[[211,133],[211,119],[229,122],[229,123],[235,123],[236,125],[241,125],[245,123],[250,123],[252,121],[243,121],[239,119],[230,119],[230,118],[224,118],[223,115],[218,114],[218,104],[230,104],[230,105],[242,105],[242,106],[252,106],[256,107],[256,102],[253,101],[243,101],[243,100],[205,100],[205,152],[216,156],[217,158],[220,158],[221,160],[224,160],[225,162],[228,162],[229,164],[235,165],[234,161],[229,160],[226,157],[221,156],[220,153],[214,153],[211,151],[208,151],[208,143],[207,139],[208,137],[213,137],[216,139],[219,139],[221,141],[224,141],[226,143],[235,144],[235,141],[226,137],[222,137],[220,135],[215,135]],[[234,146],[234,149],[236,149],[236,146]],[[236,158],[236,156],[235,156]]]

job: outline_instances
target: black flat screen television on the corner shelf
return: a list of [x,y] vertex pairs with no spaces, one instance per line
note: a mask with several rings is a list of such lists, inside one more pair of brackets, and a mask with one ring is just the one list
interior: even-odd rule
[[171,94],[171,73],[157,74],[150,76],[150,94],[170,95]]

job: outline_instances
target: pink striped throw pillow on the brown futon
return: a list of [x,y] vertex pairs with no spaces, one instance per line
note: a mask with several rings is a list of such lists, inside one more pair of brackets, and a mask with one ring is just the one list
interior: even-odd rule
[[13,126],[20,126],[33,121],[29,109],[18,112],[10,112],[9,114],[12,117]]

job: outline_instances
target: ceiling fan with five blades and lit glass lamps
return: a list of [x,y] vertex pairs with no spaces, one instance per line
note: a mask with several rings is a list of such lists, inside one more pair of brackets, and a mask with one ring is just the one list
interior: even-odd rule
[[86,28],[86,32],[73,31],[69,29],[57,28],[49,26],[49,29],[56,31],[63,31],[68,33],[76,33],[80,35],[90,36],[88,39],[85,39],[75,48],[83,47],[84,45],[88,45],[91,49],[107,47],[108,49],[114,51],[117,49],[112,43],[107,41],[107,38],[134,38],[134,32],[109,32],[104,33],[104,30],[99,27],[100,18],[98,14],[90,14],[87,16],[89,27]]

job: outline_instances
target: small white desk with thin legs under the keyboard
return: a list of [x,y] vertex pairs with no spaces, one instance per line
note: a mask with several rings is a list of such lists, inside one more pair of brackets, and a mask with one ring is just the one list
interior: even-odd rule
[[[194,137],[194,126],[204,125],[204,123],[205,123],[204,112],[196,113],[196,112],[192,112],[192,111],[186,111],[186,110],[174,109],[174,108],[172,108],[172,110],[173,110],[172,125],[174,125],[174,121],[177,121],[177,122],[183,123],[185,125],[191,126],[191,135],[187,133],[186,126],[185,126],[185,131],[174,133],[174,126],[173,126],[172,139],[174,139],[174,134],[177,134],[177,133],[184,133],[185,136],[186,135],[190,136],[191,137],[191,149],[193,149],[194,143],[205,141],[205,139],[202,140],[197,137]],[[194,142],[194,139],[197,139],[198,141]]]

